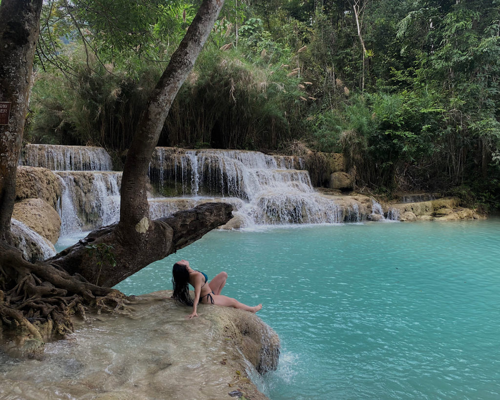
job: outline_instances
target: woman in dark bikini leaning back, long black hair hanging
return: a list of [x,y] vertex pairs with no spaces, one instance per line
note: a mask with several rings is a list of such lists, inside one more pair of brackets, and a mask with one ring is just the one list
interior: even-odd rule
[[[189,261],[182,259],[173,264],[172,268],[172,283],[173,283],[173,295],[175,300],[181,303],[192,305],[192,312],[186,316],[188,319],[192,319],[198,316],[196,313],[196,307],[199,302],[204,304],[217,304],[224,305],[226,307],[234,307],[244,309],[250,312],[257,312],[262,308],[262,304],[250,307],[243,303],[240,303],[234,298],[227,297],[220,294],[222,287],[225,285],[225,280],[227,279],[227,273],[220,272],[208,283],[207,276],[205,273],[200,271],[195,271],[189,266]],[[194,287],[194,300],[189,295],[188,283]]]

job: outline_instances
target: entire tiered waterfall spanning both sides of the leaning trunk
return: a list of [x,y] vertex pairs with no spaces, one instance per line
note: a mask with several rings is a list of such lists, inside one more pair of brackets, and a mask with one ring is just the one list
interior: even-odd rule
[[[104,149],[30,144],[23,154],[23,163],[48,167],[59,178],[61,237],[118,220],[121,172],[105,171],[111,168],[111,160]],[[94,170],[85,170],[89,168]],[[361,211],[354,200],[339,205],[342,200],[338,197],[316,192],[308,172],[301,168],[303,161],[296,156],[156,147],[148,173],[160,196],[148,199],[150,217],[171,215],[207,201],[224,201],[233,205],[239,221],[234,226],[360,222],[366,218],[365,205]],[[377,219],[387,220],[375,200],[371,211]],[[387,218],[397,219],[397,210],[389,210]]]

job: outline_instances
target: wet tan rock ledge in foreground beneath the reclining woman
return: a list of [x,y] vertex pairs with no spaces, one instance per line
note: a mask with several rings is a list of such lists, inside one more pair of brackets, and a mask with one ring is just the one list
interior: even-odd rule
[[170,295],[141,295],[126,314],[77,320],[74,333],[35,359],[6,355],[13,343],[3,344],[0,398],[267,398],[258,372],[276,368],[277,334],[228,307],[201,304],[186,320],[189,308]]

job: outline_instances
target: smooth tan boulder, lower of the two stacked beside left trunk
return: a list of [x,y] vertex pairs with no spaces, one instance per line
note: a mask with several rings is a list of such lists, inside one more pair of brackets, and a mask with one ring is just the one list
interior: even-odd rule
[[12,218],[23,222],[52,243],[59,238],[61,228],[59,214],[41,198],[25,198],[14,203]]

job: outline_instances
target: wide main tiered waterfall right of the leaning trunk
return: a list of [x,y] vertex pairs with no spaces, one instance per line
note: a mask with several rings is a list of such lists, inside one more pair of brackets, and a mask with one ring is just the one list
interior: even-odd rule
[[[243,199],[234,214],[245,225],[343,222],[335,201],[314,191],[307,171],[295,169],[301,165],[298,157],[257,151],[157,147],[149,174],[160,192]],[[171,203],[165,206],[171,212]],[[359,220],[358,210],[353,211]]]

